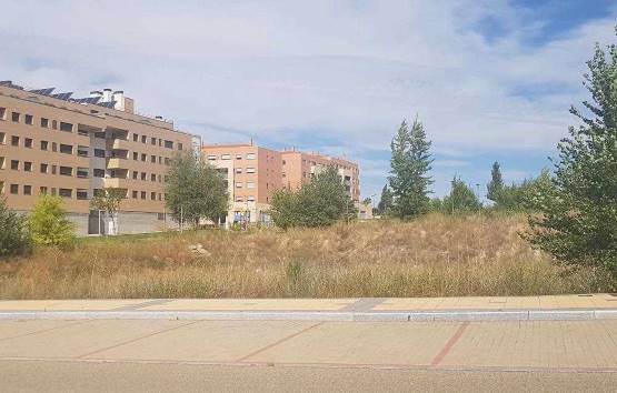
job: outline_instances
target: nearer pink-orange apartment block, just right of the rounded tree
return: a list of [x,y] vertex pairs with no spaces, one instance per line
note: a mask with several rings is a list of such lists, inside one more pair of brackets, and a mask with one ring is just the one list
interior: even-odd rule
[[280,152],[252,143],[206,145],[201,152],[227,180],[226,223],[270,222],[272,193],[282,187]]

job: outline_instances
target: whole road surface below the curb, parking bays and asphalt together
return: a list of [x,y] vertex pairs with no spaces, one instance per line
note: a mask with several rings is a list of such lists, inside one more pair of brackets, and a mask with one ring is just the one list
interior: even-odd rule
[[617,320],[0,321],[0,391],[617,391]]

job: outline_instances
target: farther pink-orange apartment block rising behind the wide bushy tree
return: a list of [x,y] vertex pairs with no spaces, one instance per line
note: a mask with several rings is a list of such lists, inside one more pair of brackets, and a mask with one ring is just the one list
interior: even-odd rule
[[360,202],[360,170],[358,164],[319,153],[305,153],[296,150],[281,152],[282,183],[297,190],[309,182],[319,171],[327,167],[335,167],[342,179],[347,194],[355,203]]

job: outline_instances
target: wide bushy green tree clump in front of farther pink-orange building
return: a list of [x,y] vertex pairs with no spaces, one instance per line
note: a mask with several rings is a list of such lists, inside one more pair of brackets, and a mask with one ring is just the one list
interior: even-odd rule
[[270,208],[272,221],[282,229],[327,226],[355,219],[357,213],[334,167],[319,172],[298,191],[278,190]]

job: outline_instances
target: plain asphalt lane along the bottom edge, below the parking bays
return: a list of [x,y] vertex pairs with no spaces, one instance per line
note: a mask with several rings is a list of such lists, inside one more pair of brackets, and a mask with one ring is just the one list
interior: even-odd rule
[[0,361],[3,392],[615,392],[616,373]]

